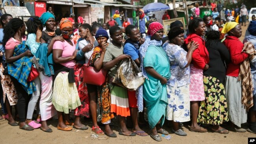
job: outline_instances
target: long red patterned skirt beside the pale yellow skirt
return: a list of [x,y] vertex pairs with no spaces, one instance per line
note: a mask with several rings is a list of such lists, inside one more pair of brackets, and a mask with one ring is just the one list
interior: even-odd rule
[[76,108],[74,115],[82,115],[89,118],[89,94],[86,84],[83,83],[83,65],[77,63],[74,68],[74,71],[76,88],[81,101],[81,105]]

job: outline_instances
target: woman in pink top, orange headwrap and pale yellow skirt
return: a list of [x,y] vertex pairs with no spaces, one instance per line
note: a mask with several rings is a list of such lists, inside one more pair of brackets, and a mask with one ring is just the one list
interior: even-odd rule
[[81,105],[74,79],[76,48],[70,39],[73,33],[72,22],[67,18],[62,18],[59,28],[65,41],[56,41],[53,45],[53,60],[56,65],[54,66],[52,104],[58,113],[57,129],[71,131],[72,127],[67,125],[72,123],[63,121],[63,113],[65,118],[68,118],[69,109],[76,109]]

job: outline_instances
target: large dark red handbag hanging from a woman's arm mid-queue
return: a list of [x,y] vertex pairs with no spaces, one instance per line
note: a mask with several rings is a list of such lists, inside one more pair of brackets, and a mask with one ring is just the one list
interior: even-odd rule
[[[95,54],[95,52],[93,54]],[[83,64],[83,82],[91,85],[103,85],[106,82],[108,70],[104,70],[103,68],[97,70],[95,67],[90,66],[91,57],[87,64]]]

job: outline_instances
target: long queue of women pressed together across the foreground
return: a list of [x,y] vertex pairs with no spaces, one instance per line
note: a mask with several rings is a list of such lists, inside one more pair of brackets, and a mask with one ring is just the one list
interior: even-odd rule
[[[242,32],[238,23],[227,22],[222,31],[206,31],[204,20],[198,17],[189,22],[186,39],[180,21],[173,22],[163,38],[163,26],[151,19],[145,39],[136,26],[126,26],[125,42],[118,26],[108,34],[96,22],[81,24],[76,44],[71,39],[72,22],[61,19],[59,36],[51,13],[30,17],[26,24],[4,14],[1,23],[1,104],[11,126],[52,132],[47,120],[57,114],[59,130],[88,129],[81,122],[85,116],[92,118],[92,131],[109,137],[117,137],[109,126],[114,116],[119,119],[119,135],[147,136],[139,124],[148,124],[150,137],[156,141],[161,141],[158,133],[169,134],[162,128],[165,119],[171,121],[171,131],[181,136],[187,135],[181,123],[190,120],[189,130],[194,132],[207,132],[200,124],[209,124],[211,131],[227,134],[220,125],[230,121],[231,131],[256,133],[256,21],[250,23],[250,35],[243,43],[238,39]],[[220,32],[225,33],[223,42]],[[145,77],[137,91],[112,83],[124,59],[134,60]],[[83,64],[108,70],[105,83],[84,83]],[[13,116],[14,105],[17,113]],[[35,108],[37,118],[32,120]],[[247,122],[247,113],[246,130],[241,124]]]

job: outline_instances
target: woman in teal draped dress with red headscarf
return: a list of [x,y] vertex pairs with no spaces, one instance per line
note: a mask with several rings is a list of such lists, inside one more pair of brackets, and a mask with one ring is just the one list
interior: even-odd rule
[[152,129],[150,137],[156,141],[161,141],[158,133],[169,134],[161,127],[168,104],[166,83],[171,77],[171,71],[168,57],[161,47],[163,26],[159,22],[152,22],[148,28],[148,35],[151,36],[151,39],[143,61],[148,79],[143,85],[143,98],[146,102],[148,123]]

